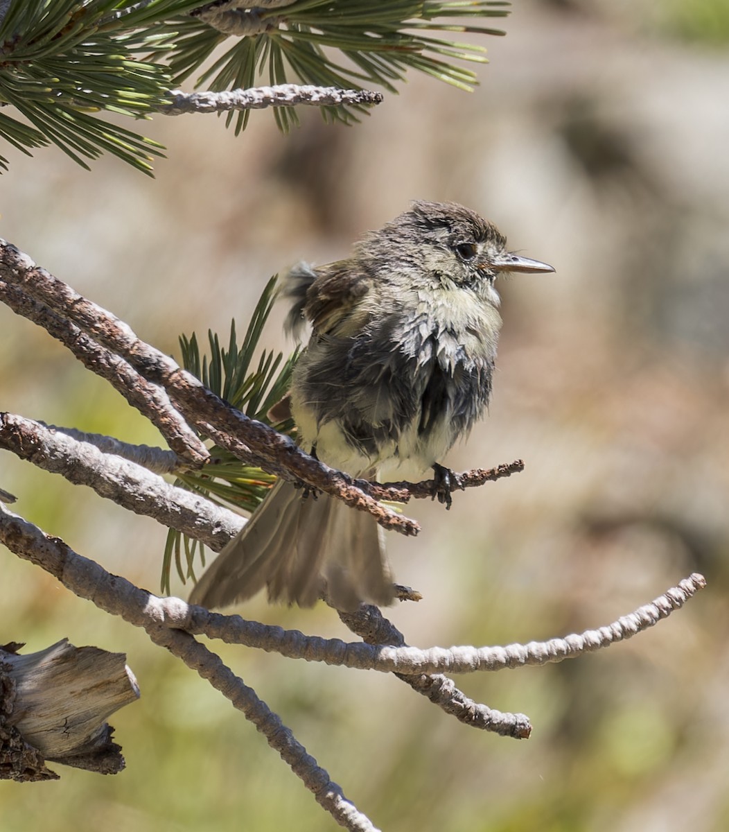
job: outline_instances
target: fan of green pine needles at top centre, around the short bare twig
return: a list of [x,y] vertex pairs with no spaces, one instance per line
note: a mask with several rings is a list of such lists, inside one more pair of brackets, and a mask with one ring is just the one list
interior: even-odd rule
[[[485,63],[485,48],[428,37],[426,32],[503,35],[500,29],[470,21],[506,17],[509,6],[480,0],[298,0],[285,7],[258,9],[259,19],[271,22],[273,28],[239,38],[199,75],[195,86],[209,82],[213,90],[252,87],[264,75],[271,84],[299,82],[357,90],[374,85],[397,92],[395,82],[403,80],[407,69],[416,69],[471,91],[478,83],[475,72],[452,61]],[[178,83],[199,72],[227,39],[199,17],[162,23],[159,35],[157,44],[168,51],[166,60]],[[345,123],[369,112],[365,105],[321,109],[327,120]],[[248,111],[229,113],[227,123],[235,121],[240,131],[248,117]],[[284,131],[296,123],[295,111],[288,107],[277,108],[274,117]]]

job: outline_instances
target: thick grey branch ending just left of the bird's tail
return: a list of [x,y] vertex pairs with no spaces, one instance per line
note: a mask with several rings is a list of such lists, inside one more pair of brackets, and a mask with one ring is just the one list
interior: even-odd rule
[[244,526],[244,518],[227,508],[32,419],[0,413],[0,448],[60,473],[71,483],[87,485],[122,508],[185,532],[216,552]]

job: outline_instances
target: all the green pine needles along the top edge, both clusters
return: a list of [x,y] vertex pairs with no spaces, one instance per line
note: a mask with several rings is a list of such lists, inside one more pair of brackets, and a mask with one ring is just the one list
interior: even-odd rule
[[[0,21],[0,139],[24,153],[54,143],[83,167],[110,152],[151,175],[162,156],[154,141],[103,120],[107,112],[149,116],[190,76],[212,91],[271,84],[397,92],[408,69],[472,90],[485,49],[452,42],[451,33],[503,34],[475,25],[505,17],[506,2],[480,0],[297,0],[259,9],[267,32],[227,37],[190,12],[199,0],[11,0]],[[245,13],[245,12],[244,12]],[[430,37],[427,32],[444,32]],[[222,57],[213,53],[230,43]],[[140,54],[149,58],[137,60]],[[327,121],[351,124],[367,105],[322,106]],[[227,125],[244,130],[250,111],[230,111]],[[293,108],[273,108],[283,131],[298,123]],[[26,122],[29,122],[26,123]],[[0,156],[0,171],[7,160]]]

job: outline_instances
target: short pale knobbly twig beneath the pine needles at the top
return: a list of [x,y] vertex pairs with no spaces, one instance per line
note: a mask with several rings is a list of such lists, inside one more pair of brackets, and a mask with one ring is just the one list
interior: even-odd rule
[[170,92],[170,104],[156,107],[164,116],[181,116],[190,112],[226,112],[229,110],[263,110],[271,106],[337,106],[341,104],[379,104],[382,92],[342,90],[338,87],[313,87],[310,84],[278,84],[223,92]]

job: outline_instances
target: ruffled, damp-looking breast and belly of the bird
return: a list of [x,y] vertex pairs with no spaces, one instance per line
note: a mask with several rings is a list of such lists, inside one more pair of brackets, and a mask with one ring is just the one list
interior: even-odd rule
[[294,418],[324,462],[423,471],[484,413],[498,311],[437,300],[401,299],[352,337],[309,344],[294,374]]

